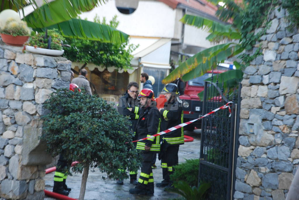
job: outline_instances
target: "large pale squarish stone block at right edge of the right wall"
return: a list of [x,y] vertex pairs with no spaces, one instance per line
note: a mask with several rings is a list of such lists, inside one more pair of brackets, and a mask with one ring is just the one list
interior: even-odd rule
[[298,89],[298,83],[298,77],[281,76],[279,94],[295,94]]

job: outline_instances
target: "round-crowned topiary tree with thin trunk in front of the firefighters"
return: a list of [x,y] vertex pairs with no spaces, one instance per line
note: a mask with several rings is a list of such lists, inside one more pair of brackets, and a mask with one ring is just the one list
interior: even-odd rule
[[[61,152],[72,167],[82,172],[79,199],[84,199],[89,167],[98,167],[108,178],[128,177],[124,170],[140,167],[140,154],[132,141],[128,117],[118,113],[105,100],[67,88],[57,90],[43,104],[50,112],[42,116],[41,140],[53,157]],[[129,142],[129,143],[126,143]]]

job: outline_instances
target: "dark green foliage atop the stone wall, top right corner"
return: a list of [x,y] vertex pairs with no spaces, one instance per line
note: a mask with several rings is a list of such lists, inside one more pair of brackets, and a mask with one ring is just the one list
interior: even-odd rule
[[284,0],[282,1],[283,8],[286,8],[289,12],[290,26],[289,28],[299,28],[299,1],[298,0]]

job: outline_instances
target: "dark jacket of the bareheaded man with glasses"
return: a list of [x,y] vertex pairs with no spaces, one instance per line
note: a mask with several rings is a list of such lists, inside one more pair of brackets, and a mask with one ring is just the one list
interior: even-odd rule
[[[130,95],[126,92],[124,96],[119,98],[119,104],[117,107],[118,112],[120,114],[130,117],[129,120],[132,122],[132,126],[130,126],[130,128],[133,131],[136,129],[137,121],[139,118],[138,110],[140,108],[138,107],[138,104],[139,104],[139,100],[131,98]],[[135,110],[135,112],[131,112],[127,108],[132,108]]]

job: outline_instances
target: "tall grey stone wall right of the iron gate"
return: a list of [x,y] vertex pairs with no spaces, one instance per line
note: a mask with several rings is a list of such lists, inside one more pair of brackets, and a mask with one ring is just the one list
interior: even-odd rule
[[244,71],[235,200],[284,200],[299,165],[299,30],[287,29],[286,13],[270,12],[263,55]]

